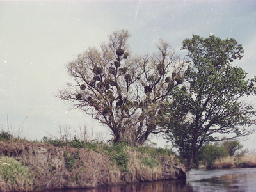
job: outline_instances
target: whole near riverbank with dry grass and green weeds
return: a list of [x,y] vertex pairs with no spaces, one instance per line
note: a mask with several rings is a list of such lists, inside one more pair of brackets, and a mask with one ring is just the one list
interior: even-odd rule
[[[53,145],[54,144],[54,145]],[[184,168],[166,149],[104,143],[0,141],[0,191],[95,188],[185,179]]]

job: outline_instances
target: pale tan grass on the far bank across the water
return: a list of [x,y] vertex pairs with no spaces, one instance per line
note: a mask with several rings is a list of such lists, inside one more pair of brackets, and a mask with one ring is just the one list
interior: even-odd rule
[[[200,164],[199,168],[207,168],[207,166]],[[256,155],[246,154],[219,158],[214,161],[211,168],[256,168]]]

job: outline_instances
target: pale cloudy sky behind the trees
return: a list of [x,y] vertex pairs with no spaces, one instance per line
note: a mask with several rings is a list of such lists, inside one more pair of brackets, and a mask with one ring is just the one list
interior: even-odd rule
[[[60,127],[86,126],[88,135],[108,138],[102,127],[58,99],[70,81],[67,63],[88,47],[127,29],[134,54],[156,50],[159,38],[177,54],[182,40],[210,33],[235,38],[244,48],[242,67],[256,76],[256,1],[0,1],[0,128],[28,140],[60,136]],[[256,106],[255,97],[248,99]],[[153,138],[159,147],[164,141]],[[256,148],[256,134],[241,141]]]

